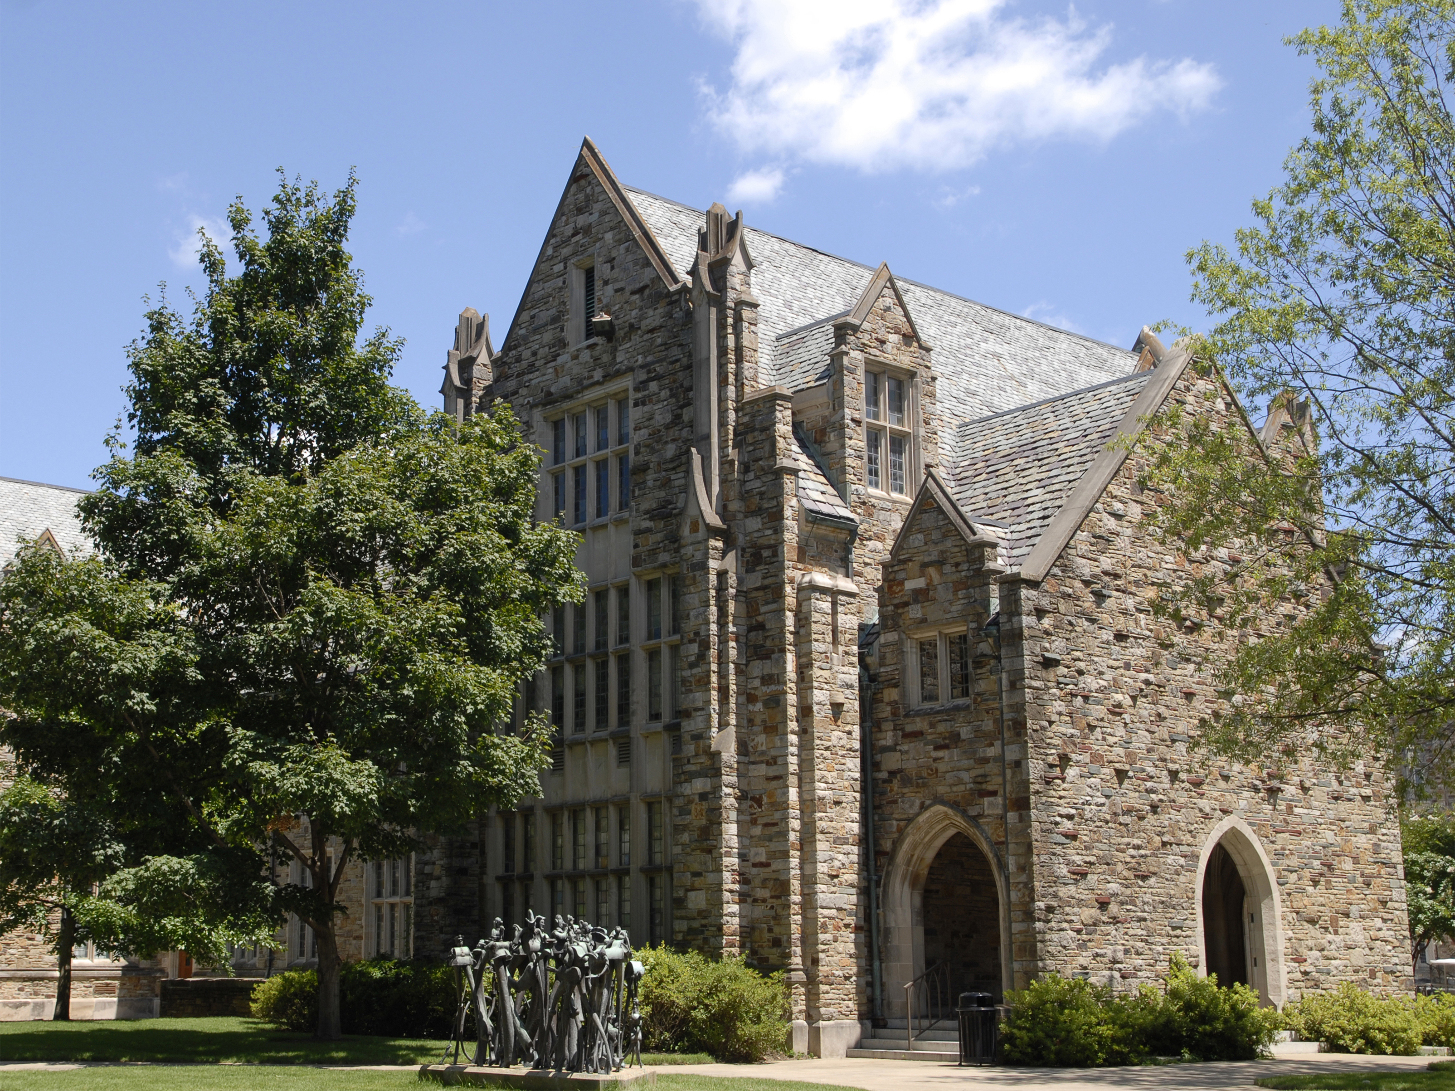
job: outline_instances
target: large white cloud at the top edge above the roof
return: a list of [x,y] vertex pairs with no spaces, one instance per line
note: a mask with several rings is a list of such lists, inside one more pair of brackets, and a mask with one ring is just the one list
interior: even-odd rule
[[[1112,28],[1021,19],[1005,0],[697,0],[736,48],[732,86],[703,87],[748,153],[866,172],[954,170],[1049,138],[1106,141],[1208,106],[1221,80],[1190,58],[1109,63]],[[746,176],[745,176],[746,177]]]

